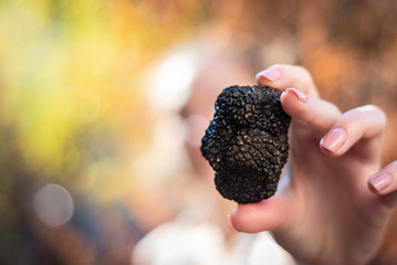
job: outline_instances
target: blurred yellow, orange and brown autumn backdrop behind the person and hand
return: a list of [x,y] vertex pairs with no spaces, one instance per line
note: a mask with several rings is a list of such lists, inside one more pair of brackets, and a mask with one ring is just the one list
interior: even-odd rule
[[[307,67],[342,110],[379,105],[397,158],[396,1],[2,0],[0,264],[130,264],[182,208],[180,109],[224,51]],[[397,216],[376,264],[395,253]]]

